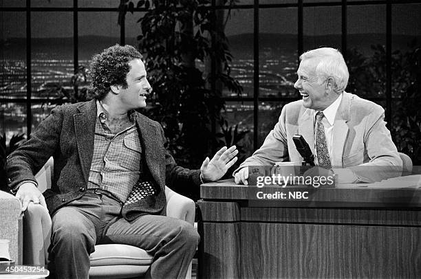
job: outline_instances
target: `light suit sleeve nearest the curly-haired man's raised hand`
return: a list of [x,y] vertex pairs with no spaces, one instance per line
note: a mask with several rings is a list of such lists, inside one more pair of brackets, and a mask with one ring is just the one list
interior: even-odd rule
[[281,116],[279,116],[279,121],[275,124],[274,129],[270,131],[263,145],[251,157],[248,157],[234,171],[233,175],[246,166],[270,166],[277,161],[288,160],[288,143],[285,128],[287,109],[288,105],[285,105],[281,111]]

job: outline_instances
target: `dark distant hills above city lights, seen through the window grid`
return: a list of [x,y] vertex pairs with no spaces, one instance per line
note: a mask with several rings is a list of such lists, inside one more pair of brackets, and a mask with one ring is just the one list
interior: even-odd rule
[[[407,49],[407,44],[417,38],[415,36],[394,35],[392,37],[393,50]],[[80,36],[79,59],[89,60],[102,49],[120,43],[120,38],[107,36]],[[421,36],[418,36],[418,44]],[[250,56],[253,49],[253,34],[239,34],[229,36],[228,41],[233,54],[237,56]],[[320,46],[332,46],[341,49],[341,35],[304,36],[304,50]],[[385,34],[349,34],[348,48],[357,47],[363,53],[369,53],[371,45],[386,43]],[[271,49],[274,54],[291,54],[296,52],[297,36],[294,34],[259,34],[259,47],[261,52]],[[45,57],[57,59],[73,58],[73,38],[32,38],[32,54],[34,58]],[[12,59],[25,59],[25,38],[10,38],[0,41],[0,57]]]

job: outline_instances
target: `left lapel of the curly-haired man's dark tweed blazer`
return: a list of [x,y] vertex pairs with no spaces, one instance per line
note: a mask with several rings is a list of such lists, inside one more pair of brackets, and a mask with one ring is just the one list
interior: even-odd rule
[[78,107],[80,113],[73,115],[74,129],[76,133],[76,145],[80,164],[82,165],[83,177],[87,181],[91,168],[92,156],[94,155],[96,101],[84,102]]

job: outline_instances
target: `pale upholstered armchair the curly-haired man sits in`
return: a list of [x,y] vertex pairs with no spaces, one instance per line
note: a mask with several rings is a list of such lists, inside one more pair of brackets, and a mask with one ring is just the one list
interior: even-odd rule
[[[53,160],[36,175],[41,192],[51,187]],[[165,189],[166,215],[182,219],[193,225],[195,203],[170,188]],[[47,248],[50,245],[51,218],[47,210],[39,204],[30,203],[23,217],[24,244],[23,263],[26,265],[46,265]],[[102,244],[95,246],[91,260],[90,278],[133,278],[146,273],[153,256],[138,247],[123,244]],[[191,266],[186,278],[191,278]]]

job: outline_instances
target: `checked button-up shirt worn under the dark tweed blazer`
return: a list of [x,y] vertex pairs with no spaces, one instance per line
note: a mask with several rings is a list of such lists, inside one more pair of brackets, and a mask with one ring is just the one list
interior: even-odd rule
[[88,189],[107,190],[124,203],[140,177],[142,147],[136,129],[136,113],[129,114],[130,126],[113,134],[105,124],[107,114],[100,102],[96,102],[96,107],[98,117]]

